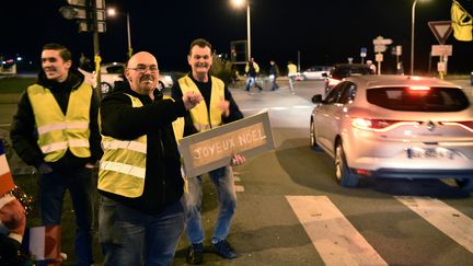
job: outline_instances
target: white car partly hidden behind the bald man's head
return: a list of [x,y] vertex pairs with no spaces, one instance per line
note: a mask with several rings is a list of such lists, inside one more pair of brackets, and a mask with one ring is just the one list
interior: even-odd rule
[[[79,69],[84,76],[88,82],[95,86],[95,72],[86,72]],[[124,81],[125,63],[123,62],[111,62],[103,63],[101,66],[101,91],[102,94],[107,94],[113,91],[116,81]],[[170,74],[160,73],[158,89],[171,88],[174,84],[173,79]]]

